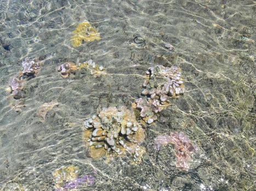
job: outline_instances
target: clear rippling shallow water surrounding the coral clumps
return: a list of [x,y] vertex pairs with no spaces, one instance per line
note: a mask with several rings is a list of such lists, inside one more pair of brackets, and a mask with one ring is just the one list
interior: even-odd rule
[[[238,0],[0,1],[0,189],[54,190],[53,172],[75,165],[79,175],[95,176],[77,190],[253,190],[255,15],[255,1]],[[74,48],[72,31],[84,20],[101,40]],[[134,37],[145,46],[130,45]],[[15,111],[5,88],[25,57],[45,63]],[[56,71],[88,59],[113,75],[62,79]],[[143,162],[89,158],[84,119],[98,108],[130,106],[154,64],[178,65],[186,92],[146,128]],[[42,122],[37,110],[52,101],[58,106]],[[157,135],[173,131],[198,147],[187,172],[176,168],[172,145],[153,150]]]

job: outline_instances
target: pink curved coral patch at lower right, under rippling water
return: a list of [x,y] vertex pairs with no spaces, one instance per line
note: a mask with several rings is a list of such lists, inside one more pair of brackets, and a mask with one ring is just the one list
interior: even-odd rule
[[161,146],[168,144],[174,145],[177,168],[187,170],[189,168],[187,163],[190,161],[191,153],[196,152],[196,147],[183,132],[172,132],[170,135],[157,136],[154,148],[159,151]]

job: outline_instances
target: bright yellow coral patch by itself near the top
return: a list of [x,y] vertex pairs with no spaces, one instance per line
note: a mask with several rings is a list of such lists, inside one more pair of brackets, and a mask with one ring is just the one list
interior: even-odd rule
[[73,34],[74,35],[71,37],[71,45],[73,47],[80,46],[83,41],[100,40],[100,34],[89,22],[79,23],[75,31],[73,31]]

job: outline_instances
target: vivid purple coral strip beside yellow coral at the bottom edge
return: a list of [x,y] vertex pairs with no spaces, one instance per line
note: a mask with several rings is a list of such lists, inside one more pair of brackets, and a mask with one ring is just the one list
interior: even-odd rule
[[58,188],[57,191],[64,191],[76,188],[79,184],[86,184],[87,186],[93,185],[95,182],[95,177],[92,175],[84,175],[81,178],[76,178],[75,180],[68,182],[63,188]]

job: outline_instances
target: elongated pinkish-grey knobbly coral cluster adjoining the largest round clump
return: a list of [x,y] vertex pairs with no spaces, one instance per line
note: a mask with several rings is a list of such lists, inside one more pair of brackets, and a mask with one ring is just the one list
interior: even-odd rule
[[178,67],[156,65],[146,71],[147,79],[143,82],[144,98],[135,100],[140,116],[147,124],[157,120],[156,114],[166,108],[168,98],[178,98],[185,91],[181,70]]

